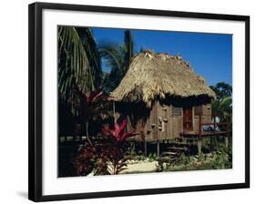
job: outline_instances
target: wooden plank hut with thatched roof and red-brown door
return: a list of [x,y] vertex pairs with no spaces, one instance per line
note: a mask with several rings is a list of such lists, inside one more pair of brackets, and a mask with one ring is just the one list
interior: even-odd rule
[[146,50],[132,60],[126,76],[111,93],[116,117],[127,117],[136,140],[164,141],[199,131],[211,122],[215,93],[181,56]]

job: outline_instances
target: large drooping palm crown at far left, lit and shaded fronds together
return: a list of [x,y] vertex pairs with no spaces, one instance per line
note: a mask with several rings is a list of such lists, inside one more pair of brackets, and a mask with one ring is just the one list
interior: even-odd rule
[[89,93],[101,84],[102,70],[97,44],[89,28],[59,26],[58,87],[66,98],[77,87]]

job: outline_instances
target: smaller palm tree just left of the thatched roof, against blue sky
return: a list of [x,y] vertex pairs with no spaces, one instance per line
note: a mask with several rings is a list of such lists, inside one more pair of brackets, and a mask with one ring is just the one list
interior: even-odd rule
[[123,76],[128,71],[128,66],[134,56],[134,41],[130,30],[124,33],[124,44],[105,44],[98,48],[105,66],[110,67],[110,73],[105,73],[105,90],[110,92],[118,87]]

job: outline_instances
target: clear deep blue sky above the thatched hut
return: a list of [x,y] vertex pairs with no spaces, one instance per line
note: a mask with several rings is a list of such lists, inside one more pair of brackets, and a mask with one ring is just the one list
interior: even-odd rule
[[[92,28],[97,44],[124,44],[124,29]],[[131,30],[135,51],[151,49],[180,55],[208,85],[232,84],[232,36],[223,34]],[[103,65],[104,67],[104,65]]]

